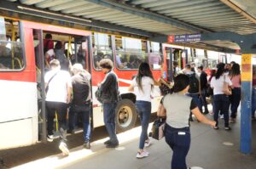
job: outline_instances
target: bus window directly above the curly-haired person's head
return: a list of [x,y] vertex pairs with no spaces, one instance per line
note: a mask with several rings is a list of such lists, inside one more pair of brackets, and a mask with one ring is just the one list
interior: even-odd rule
[[93,65],[96,70],[101,70],[101,59],[111,59],[113,61],[113,50],[111,36],[102,33],[92,34],[92,54]]

